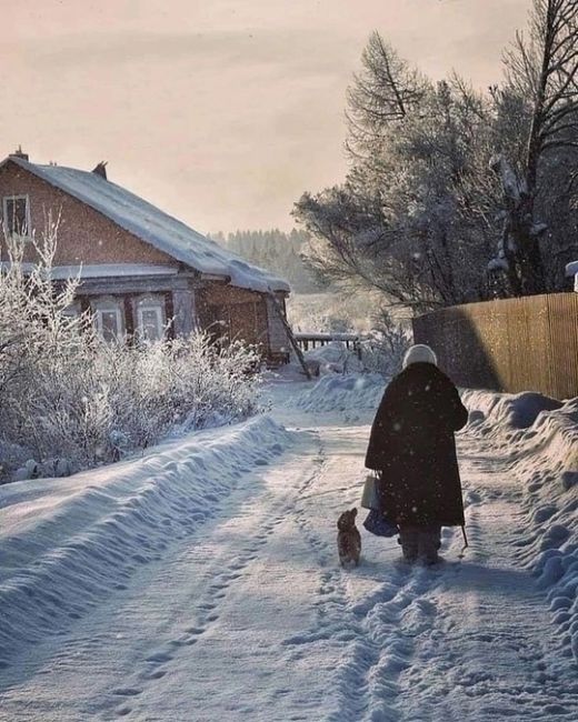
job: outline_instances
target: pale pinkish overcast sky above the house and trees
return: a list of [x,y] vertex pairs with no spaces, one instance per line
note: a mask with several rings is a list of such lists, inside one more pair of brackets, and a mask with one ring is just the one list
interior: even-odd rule
[[434,78],[500,78],[530,0],[0,0],[0,154],[92,169],[199,231],[292,225],[346,170],[375,29]]

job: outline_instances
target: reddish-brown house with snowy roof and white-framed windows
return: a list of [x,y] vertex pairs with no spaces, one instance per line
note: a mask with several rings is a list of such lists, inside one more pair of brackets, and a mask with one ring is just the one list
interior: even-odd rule
[[[71,312],[90,309],[106,339],[199,328],[258,343],[271,362],[287,359],[278,309],[289,285],[110,182],[106,163],[91,172],[41,166],[19,150],[0,163],[0,198],[4,232],[24,240],[49,212],[60,218],[53,278],[80,275]],[[37,261],[32,243],[23,260]]]

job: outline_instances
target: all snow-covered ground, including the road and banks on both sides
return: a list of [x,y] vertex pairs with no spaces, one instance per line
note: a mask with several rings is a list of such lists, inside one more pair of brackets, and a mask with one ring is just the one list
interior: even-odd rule
[[322,383],[0,488],[2,721],[578,720],[578,403],[467,392],[465,558],[459,530],[431,569],[362,530],[342,571],[379,390]]

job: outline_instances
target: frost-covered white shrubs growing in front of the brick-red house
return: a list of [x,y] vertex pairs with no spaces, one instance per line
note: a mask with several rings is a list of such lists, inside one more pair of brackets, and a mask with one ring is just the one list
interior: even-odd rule
[[23,273],[8,241],[0,273],[0,479],[54,475],[114,461],[171,430],[257,410],[257,352],[218,349],[203,333],[152,344],[107,344],[91,318],[67,313],[78,281],[50,280],[56,232],[34,241]]

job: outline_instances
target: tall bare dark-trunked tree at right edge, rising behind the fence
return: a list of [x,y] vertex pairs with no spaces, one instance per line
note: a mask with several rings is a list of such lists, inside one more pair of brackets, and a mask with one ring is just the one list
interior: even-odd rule
[[558,290],[565,258],[578,250],[578,1],[534,0],[528,34],[517,34],[506,69],[494,94],[516,134],[498,139],[491,160],[504,212],[490,268],[524,295]]

